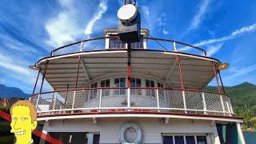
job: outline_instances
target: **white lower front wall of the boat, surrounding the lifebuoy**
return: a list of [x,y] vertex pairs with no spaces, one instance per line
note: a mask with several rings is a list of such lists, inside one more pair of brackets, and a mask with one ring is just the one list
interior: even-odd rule
[[120,143],[122,125],[135,122],[142,129],[141,143],[162,143],[162,134],[206,135],[208,144],[219,143],[214,121],[171,118],[165,123],[159,118],[97,118],[94,122],[92,118],[50,120],[43,131],[98,133],[100,143]]

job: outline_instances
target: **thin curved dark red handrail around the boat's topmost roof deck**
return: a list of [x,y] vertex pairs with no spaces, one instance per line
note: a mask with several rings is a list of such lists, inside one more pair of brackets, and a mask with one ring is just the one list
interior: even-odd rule
[[[99,40],[99,39],[106,39],[106,38],[118,38],[118,36],[109,36],[109,37],[100,37],[100,38],[90,38],[90,39],[84,39],[82,41],[78,41],[78,42],[73,42],[73,43],[70,43],[68,45],[65,45],[65,46],[60,46],[54,50],[52,50],[50,52],[50,56],[54,56],[54,53],[58,50],[62,50],[62,49],[65,49],[65,48],[68,48],[69,46],[74,46],[74,45],[77,45],[81,42],[90,42],[90,41],[95,41],[95,40]],[[198,46],[192,46],[190,44],[186,44],[185,42],[178,42],[178,41],[175,41],[175,40],[172,40],[172,39],[165,39],[165,38],[145,38],[145,39],[151,39],[151,40],[155,40],[155,41],[164,41],[164,42],[176,42],[178,44],[181,44],[181,45],[184,45],[184,46],[190,46],[191,48],[194,48],[194,49],[197,49],[197,50],[201,50],[204,54],[204,56],[206,56],[206,50],[203,50],[202,48],[198,47]],[[171,50],[170,50],[171,51]]]

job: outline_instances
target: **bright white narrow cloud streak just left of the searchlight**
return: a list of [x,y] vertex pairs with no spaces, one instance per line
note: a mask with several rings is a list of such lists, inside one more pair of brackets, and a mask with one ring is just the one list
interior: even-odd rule
[[99,19],[102,18],[102,14],[105,14],[106,10],[107,10],[107,1],[102,0],[99,3],[97,12],[94,14],[94,17],[90,19],[90,21],[88,22],[88,24],[86,26],[86,30],[84,31],[87,38],[90,38],[90,34],[92,34],[92,30],[93,30],[95,22],[97,22]]

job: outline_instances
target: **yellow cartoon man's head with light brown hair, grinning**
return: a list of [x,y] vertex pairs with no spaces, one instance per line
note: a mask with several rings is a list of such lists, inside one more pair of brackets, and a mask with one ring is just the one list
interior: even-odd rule
[[38,125],[34,104],[27,100],[20,100],[11,106],[10,114],[10,132],[15,134],[16,143],[33,143],[32,131]]

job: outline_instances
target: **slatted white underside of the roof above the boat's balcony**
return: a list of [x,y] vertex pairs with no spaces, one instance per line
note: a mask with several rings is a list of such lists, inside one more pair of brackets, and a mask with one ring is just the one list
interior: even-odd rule
[[[166,81],[173,88],[181,88],[178,57],[187,89],[201,90],[214,77],[212,62],[220,65],[214,58],[160,50],[131,50],[130,55],[131,76],[153,76]],[[67,86],[75,88],[79,56],[78,88],[107,74],[127,73],[127,50],[99,50],[43,58],[38,62],[38,67],[43,74],[48,62],[46,81],[56,90],[66,89]]]

